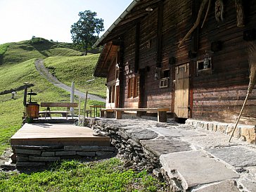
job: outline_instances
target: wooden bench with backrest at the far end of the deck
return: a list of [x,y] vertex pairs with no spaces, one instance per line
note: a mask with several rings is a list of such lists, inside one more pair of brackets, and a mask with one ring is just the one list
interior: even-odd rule
[[[61,114],[63,117],[68,119],[68,112],[70,108],[77,108],[78,103],[41,103],[41,107],[45,107],[46,111],[39,111],[39,114],[44,114],[44,117],[51,117],[51,114]],[[51,111],[51,107],[58,108],[67,108],[66,111],[63,110],[53,110]],[[73,116],[72,116],[73,118]]]

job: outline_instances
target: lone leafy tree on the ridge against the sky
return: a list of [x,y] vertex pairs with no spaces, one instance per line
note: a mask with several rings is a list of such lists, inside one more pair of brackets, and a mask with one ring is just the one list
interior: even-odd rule
[[80,51],[87,51],[98,40],[98,34],[104,30],[103,19],[95,18],[97,13],[79,12],[79,20],[71,25],[73,44]]

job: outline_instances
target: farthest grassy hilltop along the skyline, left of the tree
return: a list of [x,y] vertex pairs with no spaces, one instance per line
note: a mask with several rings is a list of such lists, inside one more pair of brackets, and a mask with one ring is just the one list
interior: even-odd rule
[[70,43],[58,43],[41,37],[0,45],[0,65],[22,63],[32,58],[81,55],[81,52],[72,49]]

